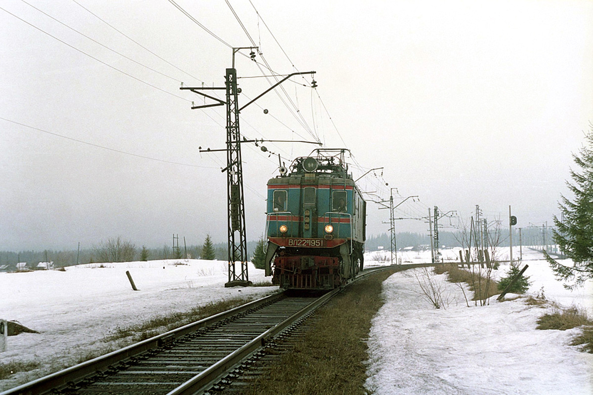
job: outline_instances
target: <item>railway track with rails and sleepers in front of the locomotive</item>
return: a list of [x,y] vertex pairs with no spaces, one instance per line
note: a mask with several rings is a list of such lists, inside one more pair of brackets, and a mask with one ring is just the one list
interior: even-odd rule
[[[375,270],[376,271],[376,270]],[[358,278],[374,271],[365,271]],[[356,281],[356,280],[355,280]],[[275,294],[4,391],[16,394],[199,394],[341,291]],[[227,378],[226,381],[232,380]]]

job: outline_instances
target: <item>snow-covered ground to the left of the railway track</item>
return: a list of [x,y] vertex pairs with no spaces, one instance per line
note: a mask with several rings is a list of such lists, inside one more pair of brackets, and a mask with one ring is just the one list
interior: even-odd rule
[[[138,291],[132,290],[126,271]],[[249,280],[264,278],[263,270],[250,264]],[[89,264],[71,266],[65,272],[0,273],[0,317],[18,320],[40,332],[10,336],[0,363],[42,364],[39,370],[0,380],[0,390],[55,370],[56,363],[72,365],[88,352],[114,346],[104,342],[104,337],[118,327],[213,301],[259,298],[278,291],[278,287],[224,288],[227,280],[227,262],[197,259]]]

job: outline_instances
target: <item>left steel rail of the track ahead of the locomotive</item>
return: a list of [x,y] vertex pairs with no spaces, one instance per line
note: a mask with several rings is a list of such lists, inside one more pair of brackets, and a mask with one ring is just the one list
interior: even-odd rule
[[222,313],[215,314],[211,317],[206,317],[199,321],[189,323],[187,325],[178,327],[177,329],[162,333],[161,335],[154,336],[150,339],[146,339],[144,341],[126,346],[125,348],[101,355],[100,357],[89,359],[88,361],[82,362],[81,364],[74,365],[44,377],[37,378],[36,380],[29,381],[28,383],[21,384],[20,386],[1,392],[0,395],[36,395],[52,390],[53,388],[66,386],[71,382],[77,383],[87,377],[90,377],[91,375],[97,374],[101,370],[109,368],[115,364],[119,364],[126,359],[135,357],[151,349],[167,345],[168,343],[173,342],[174,340],[181,338],[188,333],[195,332],[201,327],[212,325],[213,323],[232,317],[235,314],[240,314],[244,311],[259,307],[262,304],[273,301],[275,298],[282,298],[282,296],[283,293],[276,293],[258,300],[251,301],[241,306],[234,307],[234,309],[222,311]]

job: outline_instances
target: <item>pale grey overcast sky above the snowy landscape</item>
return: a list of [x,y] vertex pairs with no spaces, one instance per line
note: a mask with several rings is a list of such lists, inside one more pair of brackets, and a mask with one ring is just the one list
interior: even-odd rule
[[[241,133],[346,147],[355,178],[383,167],[359,181],[378,195],[368,235],[388,230],[370,200],[391,187],[396,203],[419,196],[399,217],[437,205],[467,219],[479,204],[506,224],[511,205],[518,227],[551,225],[593,121],[592,1],[229,2],[260,65],[317,72],[316,89],[293,78],[290,100],[270,92],[243,110]],[[178,88],[224,86],[231,47],[252,44],[227,2],[176,4],[193,20],[167,0],[0,2],[0,250],[226,239],[225,155],[198,149],[224,147],[224,107],[191,110],[203,98]],[[271,73],[240,54],[235,67]],[[270,83],[240,86],[245,104]],[[286,164],[314,148],[265,145]],[[245,144],[243,159],[253,240],[278,158]]]

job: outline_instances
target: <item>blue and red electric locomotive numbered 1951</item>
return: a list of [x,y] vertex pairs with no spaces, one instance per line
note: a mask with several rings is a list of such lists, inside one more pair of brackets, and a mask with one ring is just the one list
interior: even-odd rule
[[364,264],[366,202],[346,149],[317,149],[267,182],[266,275],[285,289],[339,287]]

